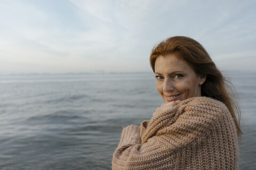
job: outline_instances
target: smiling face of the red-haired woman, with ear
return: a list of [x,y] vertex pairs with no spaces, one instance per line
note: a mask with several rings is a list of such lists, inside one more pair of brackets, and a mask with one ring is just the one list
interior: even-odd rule
[[201,96],[204,77],[175,54],[158,56],[155,62],[156,89],[165,103]]

